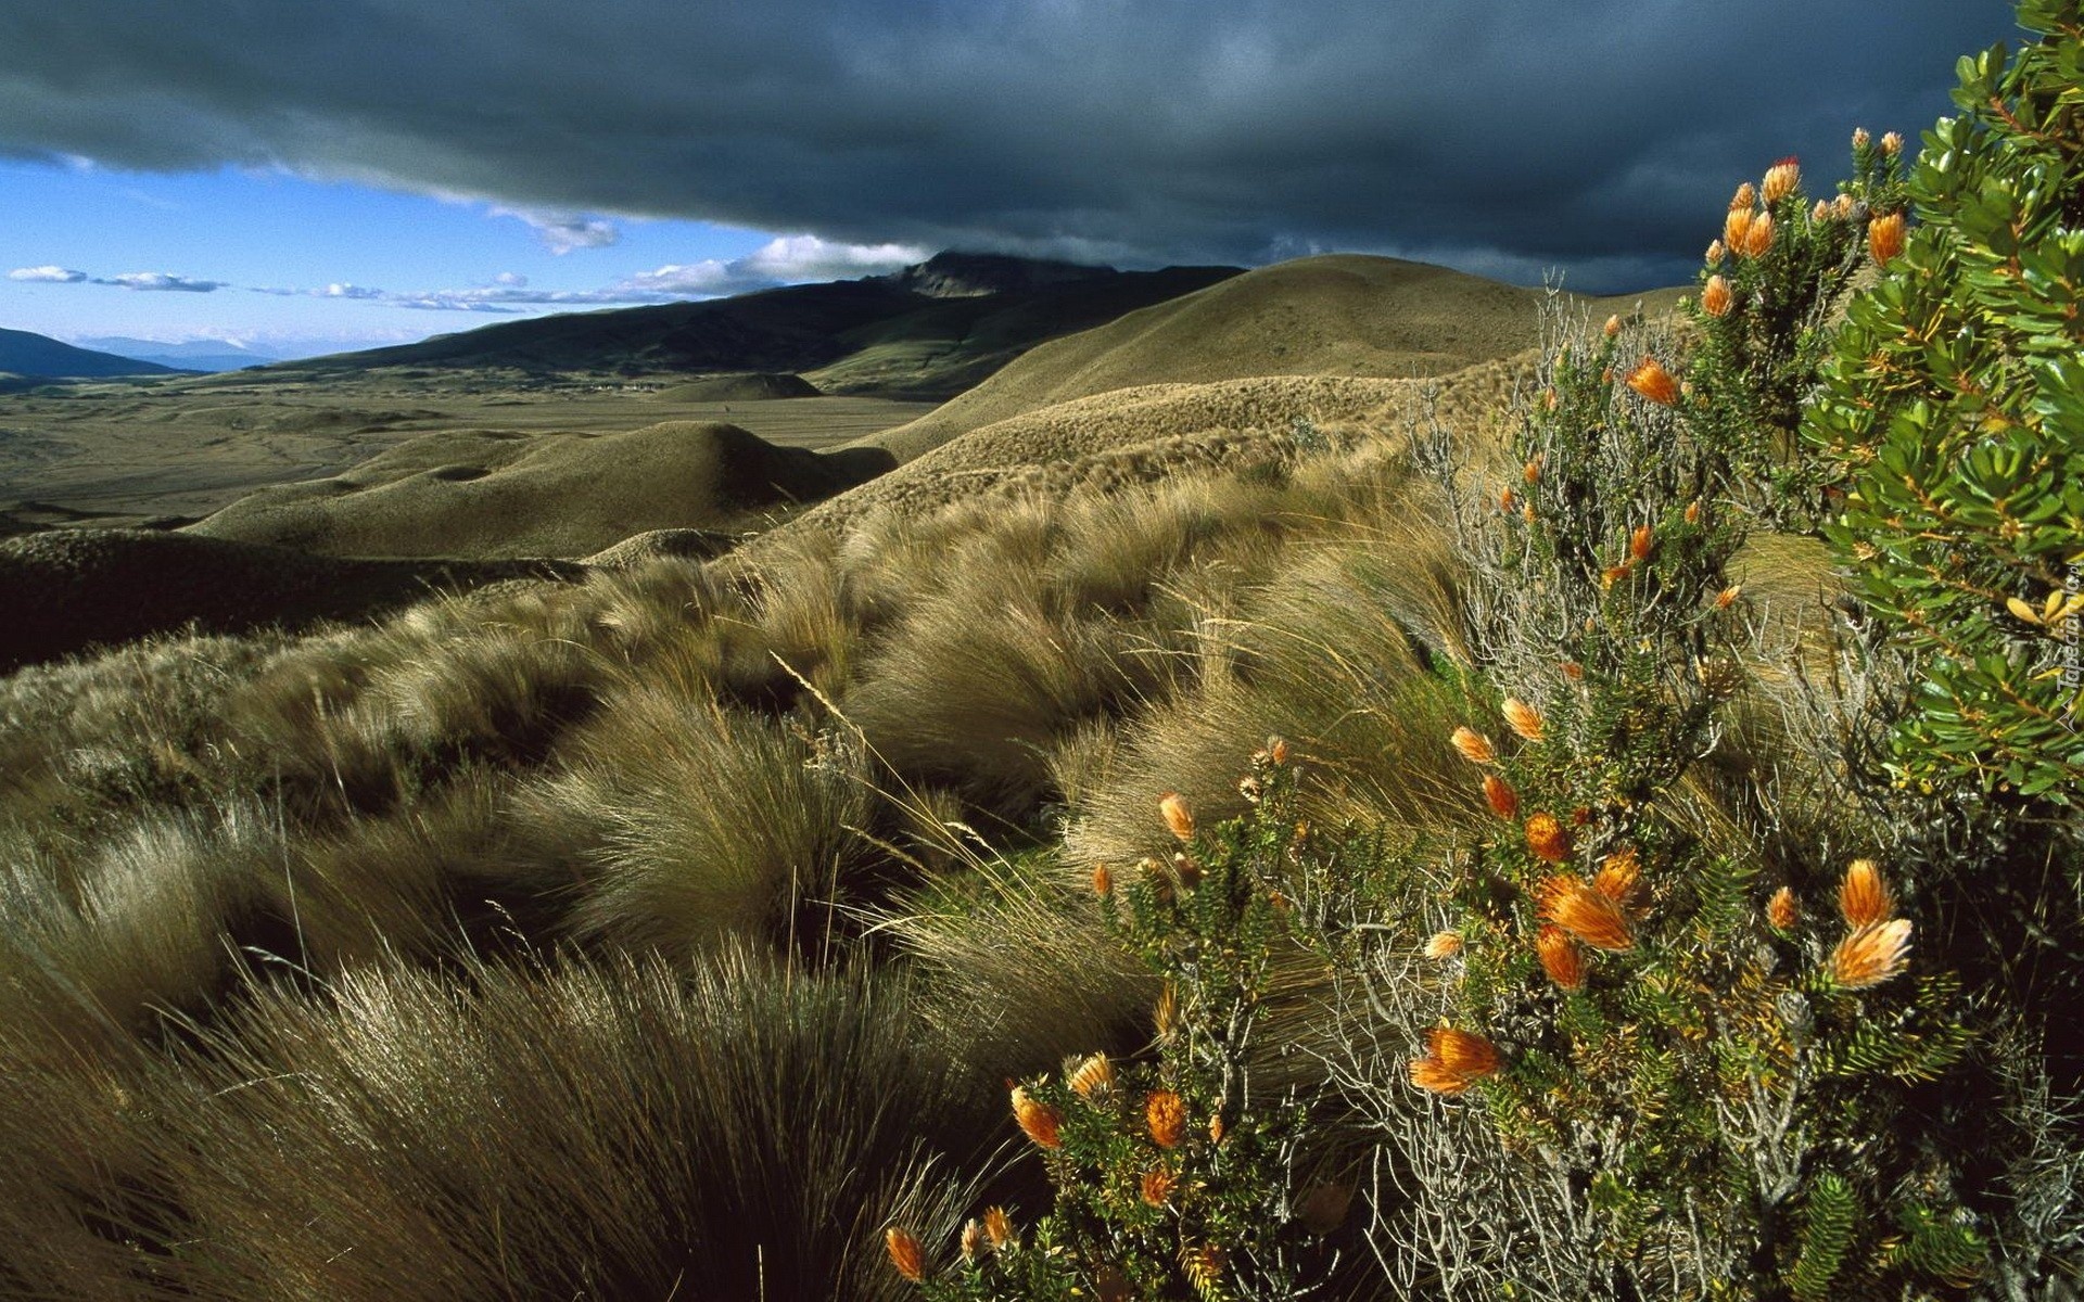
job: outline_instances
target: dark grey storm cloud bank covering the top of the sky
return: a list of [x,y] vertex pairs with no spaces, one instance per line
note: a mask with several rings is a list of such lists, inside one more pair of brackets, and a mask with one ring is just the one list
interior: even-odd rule
[[1780,154],[1821,177],[1853,125],[1915,137],[1955,56],[2013,35],[2005,0],[8,10],[17,156],[1125,262],[1373,248],[1586,287],[1684,273]]

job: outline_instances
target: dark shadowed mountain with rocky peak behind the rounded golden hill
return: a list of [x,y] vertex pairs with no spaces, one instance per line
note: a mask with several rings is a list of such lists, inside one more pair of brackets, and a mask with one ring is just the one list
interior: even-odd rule
[[827,394],[950,398],[1036,344],[1238,275],[1113,271],[946,252],[894,275],[604,312],[504,321],[419,344],[279,362],[277,375],[369,367],[529,375],[802,375]]

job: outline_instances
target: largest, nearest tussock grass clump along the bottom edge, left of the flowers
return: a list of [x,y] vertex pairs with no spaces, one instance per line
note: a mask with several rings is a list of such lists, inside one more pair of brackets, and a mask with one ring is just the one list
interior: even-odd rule
[[[127,1112],[131,1215],[171,1233],[144,1235],[117,1296],[150,1271],[254,1300],[877,1298],[882,1227],[952,1231],[975,1190],[944,1177],[990,1171],[990,1092],[886,977],[744,950],[461,975],[375,962],[325,992],[250,990],[127,1098],[50,1073],[10,1073],[0,1098],[63,1087],[65,1121]],[[106,1192],[63,1173],[10,1185],[15,1225]],[[79,1240],[56,1242],[108,1285],[115,1252]],[[94,1273],[13,1248],[19,1296],[94,1294]]]

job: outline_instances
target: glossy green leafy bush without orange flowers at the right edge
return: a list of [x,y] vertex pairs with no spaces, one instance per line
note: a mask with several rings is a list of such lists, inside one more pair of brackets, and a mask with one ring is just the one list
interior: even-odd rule
[[1894,773],[2074,808],[2084,792],[2084,8],[1959,65],[1921,225],[1851,308],[1805,435],[1846,490],[1830,537],[1921,654]]

